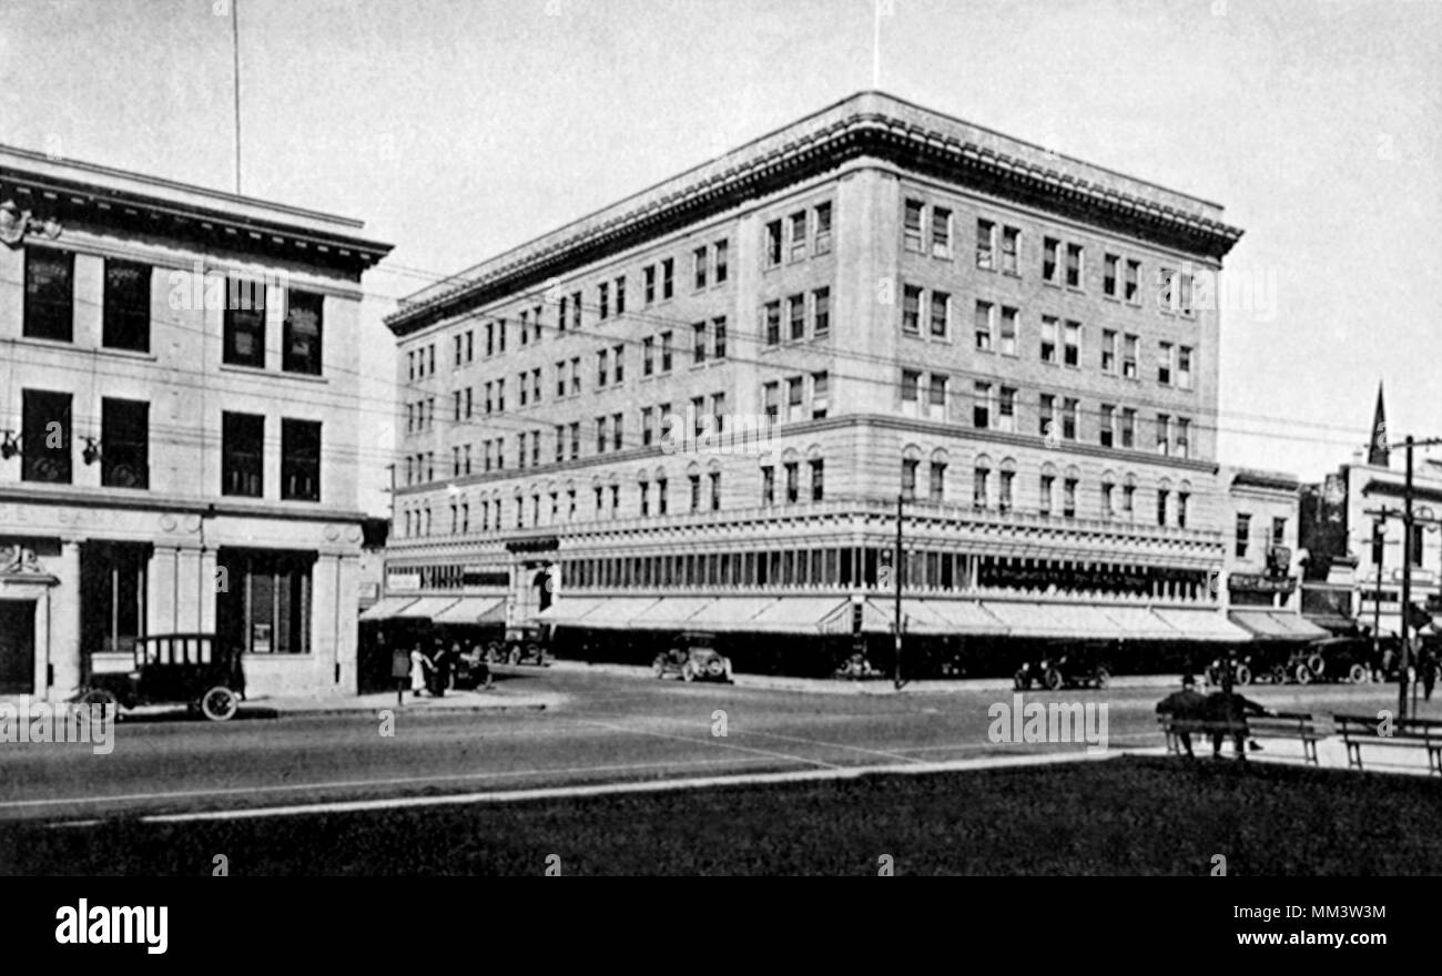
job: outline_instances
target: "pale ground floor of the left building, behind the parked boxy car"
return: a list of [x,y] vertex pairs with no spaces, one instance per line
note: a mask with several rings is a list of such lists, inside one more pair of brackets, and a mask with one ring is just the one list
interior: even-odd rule
[[137,637],[218,633],[247,691],[353,693],[355,520],[0,502],[0,696],[62,701]]

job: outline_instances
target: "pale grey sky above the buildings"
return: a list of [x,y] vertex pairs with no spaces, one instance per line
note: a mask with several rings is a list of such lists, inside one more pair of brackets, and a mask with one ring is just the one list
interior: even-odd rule
[[0,143],[234,190],[231,3],[242,192],[395,245],[378,401],[394,298],[878,86],[1226,208],[1221,463],[1442,434],[1442,0],[0,0]]

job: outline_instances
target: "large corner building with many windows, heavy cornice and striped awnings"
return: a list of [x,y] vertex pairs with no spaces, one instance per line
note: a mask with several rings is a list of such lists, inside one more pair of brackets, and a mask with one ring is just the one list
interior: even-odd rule
[[913,647],[1242,639],[1208,585],[1239,236],[1214,203],[838,102],[402,303],[375,616],[884,644],[900,497]]

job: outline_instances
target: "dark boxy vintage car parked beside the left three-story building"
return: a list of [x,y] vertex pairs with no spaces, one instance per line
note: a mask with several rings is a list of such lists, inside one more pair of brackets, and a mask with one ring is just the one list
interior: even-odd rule
[[121,708],[183,704],[224,722],[235,717],[244,698],[241,650],[216,634],[182,633],[137,637],[134,667],[91,675],[75,701]]

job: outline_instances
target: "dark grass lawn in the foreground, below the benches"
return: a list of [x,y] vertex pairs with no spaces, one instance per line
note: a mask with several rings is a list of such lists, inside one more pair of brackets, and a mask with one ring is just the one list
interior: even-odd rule
[[1442,783],[1120,758],[568,802],[4,828],[13,874],[1442,872]]

